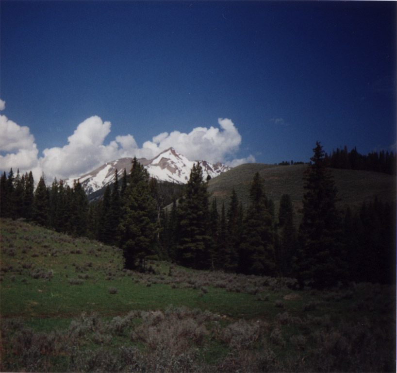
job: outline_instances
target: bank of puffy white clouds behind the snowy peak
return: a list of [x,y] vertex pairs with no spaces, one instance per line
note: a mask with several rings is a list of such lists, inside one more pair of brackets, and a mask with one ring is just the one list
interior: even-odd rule
[[[163,132],[146,141],[140,148],[132,135],[116,136],[105,143],[111,132],[111,123],[98,116],[85,119],[67,138],[63,147],[47,148],[38,157],[34,137],[28,127],[18,126],[5,116],[0,116],[1,151],[13,152],[2,156],[1,168],[22,170],[34,169],[34,178],[44,172],[50,182],[56,177],[76,178],[102,164],[121,157],[153,158],[158,153],[173,147],[190,160],[223,162],[230,166],[255,162],[247,158],[233,159],[241,144],[241,135],[231,119],[218,119],[219,128],[211,126],[194,128],[190,133]],[[231,160],[232,159],[232,160]]]

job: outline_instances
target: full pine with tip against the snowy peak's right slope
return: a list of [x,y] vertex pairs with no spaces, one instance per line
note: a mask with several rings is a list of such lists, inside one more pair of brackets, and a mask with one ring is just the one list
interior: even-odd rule
[[198,269],[210,265],[209,210],[207,183],[203,181],[199,163],[190,172],[186,193],[179,204],[179,260],[186,267]]

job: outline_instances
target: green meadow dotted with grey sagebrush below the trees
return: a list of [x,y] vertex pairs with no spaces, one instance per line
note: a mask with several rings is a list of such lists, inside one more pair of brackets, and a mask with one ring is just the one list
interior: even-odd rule
[[1,372],[389,372],[396,288],[123,269],[115,247],[1,220]]

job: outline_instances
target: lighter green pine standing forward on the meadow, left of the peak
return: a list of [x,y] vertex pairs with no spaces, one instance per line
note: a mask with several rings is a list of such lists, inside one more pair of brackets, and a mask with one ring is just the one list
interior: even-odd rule
[[143,270],[146,261],[155,253],[156,208],[149,192],[149,173],[134,157],[122,202],[118,226],[120,248],[126,268],[135,268],[136,262]]

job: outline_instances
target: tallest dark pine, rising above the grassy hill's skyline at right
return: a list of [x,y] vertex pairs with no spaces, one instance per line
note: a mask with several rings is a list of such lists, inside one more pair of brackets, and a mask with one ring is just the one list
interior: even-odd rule
[[346,263],[341,244],[341,221],[336,209],[337,190],[324,164],[319,142],[313,149],[312,164],[305,171],[303,218],[299,226],[300,253],[298,280],[313,280],[323,288],[346,279]]

